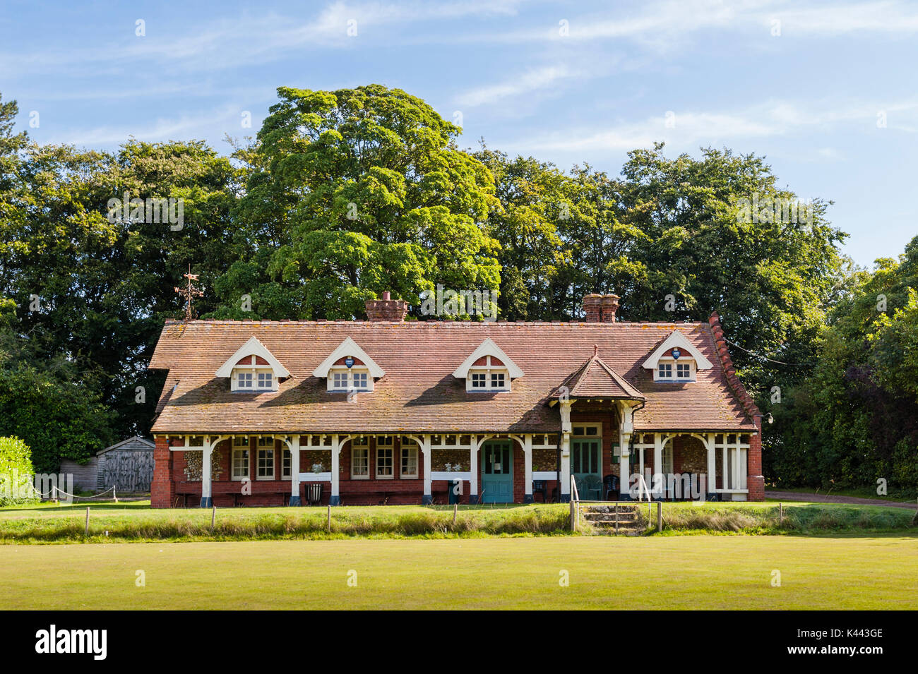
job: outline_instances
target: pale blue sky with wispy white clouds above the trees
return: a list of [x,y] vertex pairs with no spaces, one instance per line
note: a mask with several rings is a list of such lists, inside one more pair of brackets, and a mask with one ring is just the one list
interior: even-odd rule
[[277,86],[382,83],[461,123],[463,147],[484,137],[564,169],[618,173],[655,140],[765,155],[782,185],[834,201],[861,265],[918,234],[916,63],[918,3],[895,0],[0,7],[0,93],[42,143],[227,152]]

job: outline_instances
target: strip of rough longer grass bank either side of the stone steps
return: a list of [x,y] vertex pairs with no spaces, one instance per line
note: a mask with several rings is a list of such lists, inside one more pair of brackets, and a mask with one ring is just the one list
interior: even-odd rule
[[[336,539],[346,537],[570,536],[568,506],[532,504],[417,505],[332,508],[151,510],[149,502],[93,503],[89,536],[85,504],[43,503],[0,510],[0,543],[69,544]],[[876,505],[786,503],[665,503],[664,536],[705,533],[756,535],[918,534],[913,512]],[[638,507],[647,534],[655,532],[655,504]],[[648,517],[649,514],[649,517]],[[584,526],[581,533],[597,533]]]

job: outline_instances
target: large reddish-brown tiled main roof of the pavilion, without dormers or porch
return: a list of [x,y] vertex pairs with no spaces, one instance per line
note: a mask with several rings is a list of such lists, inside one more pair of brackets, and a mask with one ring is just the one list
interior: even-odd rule
[[[695,382],[657,383],[642,368],[674,329],[714,364]],[[277,392],[230,392],[229,381],[214,376],[251,337],[291,374]],[[351,402],[312,374],[346,337],[385,371],[373,392]],[[509,392],[466,392],[465,381],[453,377],[486,338],[525,373]],[[556,433],[560,415],[546,403],[594,355],[622,391],[644,396],[635,430],[756,428],[726,379],[707,323],[175,321],[163,327],[150,363],[168,370],[152,431]]]

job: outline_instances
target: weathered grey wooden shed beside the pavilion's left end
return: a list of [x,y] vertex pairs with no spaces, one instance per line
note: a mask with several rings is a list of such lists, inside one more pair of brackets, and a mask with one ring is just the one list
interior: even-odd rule
[[76,489],[103,492],[113,485],[119,493],[149,492],[153,479],[153,448],[150,440],[129,437],[99,449],[86,463],[62,459],[61,472],[73,473]]

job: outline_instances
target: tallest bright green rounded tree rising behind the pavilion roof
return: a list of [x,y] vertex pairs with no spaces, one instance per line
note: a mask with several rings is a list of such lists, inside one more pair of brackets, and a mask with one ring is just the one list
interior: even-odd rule
[[345,318],[386,290],[415,305],[437,283],[497,290],[481,227],[493,179],[455,147],[457,127],[377,84],[278,95],[245,152],[237,214],[255,252],[218,282],[214,315],[241,317],[243,294],[247,317]]

